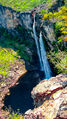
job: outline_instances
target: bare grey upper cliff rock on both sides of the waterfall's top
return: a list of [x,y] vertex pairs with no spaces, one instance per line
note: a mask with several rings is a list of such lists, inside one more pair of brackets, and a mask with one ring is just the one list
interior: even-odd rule
[[[52,6],[49,7],[49,3],[46,3],[40,7],[37,7],[31,11],[28,12],[16,12],[13,9],[9,7],[4,7],[0,5],[0,26],[8,29],[8,31],[13,31],[15,34],[17,32],[17,26],[20,25],[27,29],[27,31],[31,31],[30,35],[33,37],[32,33],[32,25],[33,25],[33,13],[36,13],[36,28],[37,28],[37,33],[40,32],[40,30],[43,31],[43,37],[47,39],[48,45],[50,48],[52,48],[51,43],[55,41],[55,35],[54,35],[54,29],[53,29],[53,23],[47,23],[44,22],[42,24],[42,17],[43,15],[41,14],[42,10],[47,10],[50,12],[58,11],[58,9],[64,5],[64,0],[56,0],[52,1]],[[20,35],[20,34],[19,34]],[[39,37],[39,35],[38,35]]]

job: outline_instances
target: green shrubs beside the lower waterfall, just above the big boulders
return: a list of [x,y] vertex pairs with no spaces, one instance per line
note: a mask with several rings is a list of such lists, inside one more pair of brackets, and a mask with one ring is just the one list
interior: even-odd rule
[[67,53],[65,51],[50,51],[47,55],[54,73],[67,73]]

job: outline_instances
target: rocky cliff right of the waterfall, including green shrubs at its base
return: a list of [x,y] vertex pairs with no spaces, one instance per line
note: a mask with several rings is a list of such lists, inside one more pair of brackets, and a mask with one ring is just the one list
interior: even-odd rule
[[[64,0],[53,0],[51,2],[53,5],[49,8],[49,4],[46,3],[43,6],[40,6],[35,9],[36,13],[38,13],[39,16],[36,15],[36,28],[37,33],[39,37],[40,30],[42,31],[43,40],[45,43],[45,48],[47,50],[47,58],[50,62],[50,65],[52,67],[52,71],[55,75],[59,73],[66,73],[67,68],[64,66],[64,58],[66,57],[66,49],[67,49],[67,41],[59,41],[60,32],[57,31],[56,23],[55,21],[50,21],[49,23],[47,20],[42,20],[43,14],[41,14],[41,10],[47,10],[46,14],[48,12],[57,12],[61,9],[62,6],[64,6],[65,1]],[[39,25],[40,24],[40,25]],[[62,57],[63,54],[63,57]],[[58,56],[58,57],[57,57]],[[61,58],[62,57],[62,58]],[[60,60],[59,60],[60,59]],[[65,60],[66,61],[66,60]],[[63,65],[64,68],[61,68]],[[63,71],[62,71],[63,70]]]

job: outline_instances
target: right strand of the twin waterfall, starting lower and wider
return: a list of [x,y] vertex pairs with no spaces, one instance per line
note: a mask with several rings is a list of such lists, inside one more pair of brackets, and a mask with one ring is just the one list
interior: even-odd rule
[[43,67],[43,71],[45,74],[45,78],[49,79],[51,77],[51,68],[46,56],[46,50],[44,47],[44,43],[43,43],[43,39],[42,39],[42,34],[40,32],[40,39],[39,39],[39,43],[40,43],[40,52],[41,52],[41,58],[42,58],[42,67]]

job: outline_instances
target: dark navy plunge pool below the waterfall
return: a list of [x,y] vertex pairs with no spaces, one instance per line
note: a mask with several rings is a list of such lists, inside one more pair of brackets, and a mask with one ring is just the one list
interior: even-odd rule
[[28,109],[33,109],[33,99],[31,91],[39,82],[37,71],[27,72],[19,79],[19,84],[10,88],[10,95],[5,97],[4,104],[13,111],[20,110],[20,113],[26,112]]

